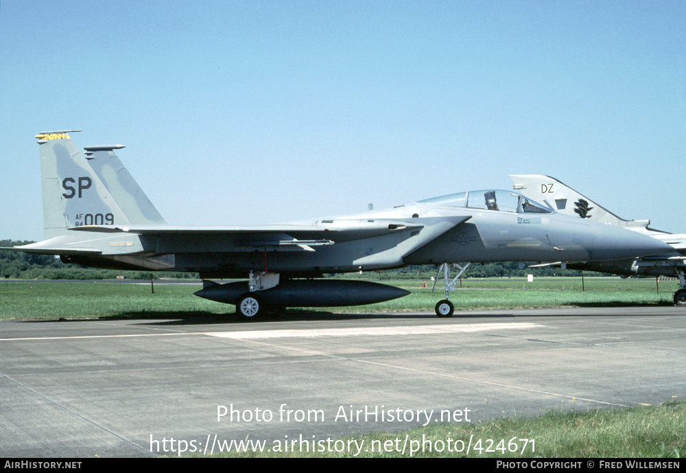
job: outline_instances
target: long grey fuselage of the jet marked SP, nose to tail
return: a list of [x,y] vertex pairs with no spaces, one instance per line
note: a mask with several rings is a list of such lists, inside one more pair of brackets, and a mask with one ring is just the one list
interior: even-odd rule
[[[113,246],[113,254],[76,255],[69,261],[122,269],[198,272],[212,277],[244,277],[250,270],[307,276],[406,264],[621,259],[654,251],[641,246],[650,246],[654,240],[634,232],[554,213],[531,215],[412,204],[307,224],[324,227],[333,235],[341,224],[385,221],[404,222],[408,229],[357,240],[339,239],[335,244],[316,246],[316,251],[299,246],[260,247],[259,240],[268,236],[259,232],[249,238],[206,233],[115,233],[108,235],[110,241],[135,240],[128,247],[140,247],[139,255],[117,255],[117,249],[127,246]],[[314,239],[316,235],[300,235],[301,239],[308,237]],[[94,240],[93,246],[102,248],[102,243]]]

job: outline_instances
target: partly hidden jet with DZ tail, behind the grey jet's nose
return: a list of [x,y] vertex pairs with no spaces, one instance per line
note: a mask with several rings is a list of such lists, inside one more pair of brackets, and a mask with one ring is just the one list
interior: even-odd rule
[[[649,227],[650,220],[624,220],[608,209],[582,196],[571,187],[561,183],[556,178],[541,174],[525,174],[510,176],[514,189],[519,190],[526,198],[539,200],[551,206],[559,214],[576,216],[591,222],[599,222],[622,229],[628,229],[641,235],[649,236],[659,242],[670,245],[670,249],[658,255],[630,259],[615,259],[613,261],[589,261],[567,263],[569,269],[598,271],[616,275],[658,277],[677,277],[679,289],[674,292],[674,303],[686,305],[686,234],[667,233]],[[556,262],[541,266],[560,266]]]

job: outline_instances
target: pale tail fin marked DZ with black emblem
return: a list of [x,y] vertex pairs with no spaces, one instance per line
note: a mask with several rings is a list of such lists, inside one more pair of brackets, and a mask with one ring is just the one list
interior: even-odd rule
[[523,196],[545,202],[560,214],[588,218],[615,227],[647,228],[650,224],[650,220],[624,220],[550,176],[521,174],[511,175],[510,179],[514,183],[514,189],[519,190]]

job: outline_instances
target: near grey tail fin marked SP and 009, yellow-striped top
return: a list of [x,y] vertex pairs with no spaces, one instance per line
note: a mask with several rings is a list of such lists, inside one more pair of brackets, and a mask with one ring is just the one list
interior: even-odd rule
[[43,191],[45,239],[69,235],[69,228],[83,225],[127,224],[126,214],[88,165],[67,133],[42,132],[40,174]]

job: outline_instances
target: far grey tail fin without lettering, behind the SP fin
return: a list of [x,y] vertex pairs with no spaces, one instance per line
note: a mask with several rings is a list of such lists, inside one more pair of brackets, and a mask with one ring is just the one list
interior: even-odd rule
[[123,145],[85,146],[86,160],[132,224],[166,224],[113,150]]

